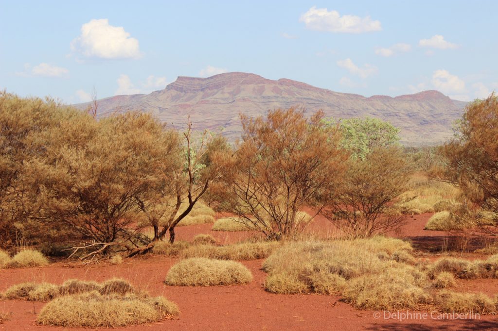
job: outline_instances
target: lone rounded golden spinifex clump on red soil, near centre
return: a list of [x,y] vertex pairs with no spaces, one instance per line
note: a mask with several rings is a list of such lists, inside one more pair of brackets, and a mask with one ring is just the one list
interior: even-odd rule
[[214,286],[247,284],[252,274],[242,263],[192,257],[173,265],[165,283],[176,286]]

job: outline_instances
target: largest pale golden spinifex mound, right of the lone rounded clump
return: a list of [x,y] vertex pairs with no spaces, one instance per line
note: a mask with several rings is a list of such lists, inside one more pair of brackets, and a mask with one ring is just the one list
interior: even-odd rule
[[285,244],[263,263],[263,270],[268,272],[265,289],[274,293],[338,292],[344,287],[342,279],[349,281],[404,265],[393,256],[400,252],[411,256],[411,250],[408,243],[384,237]]

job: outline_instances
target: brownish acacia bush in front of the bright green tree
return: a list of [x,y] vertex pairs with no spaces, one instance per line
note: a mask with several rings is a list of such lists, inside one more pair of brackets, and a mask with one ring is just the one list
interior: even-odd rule
[[407,188],[410,173],[402,151],[380,148],[364,160],[350,159],[344,184],[327,203],[325,216],[340,228],[359,237],[369,237],[399,228],[405,216],[396,200]]

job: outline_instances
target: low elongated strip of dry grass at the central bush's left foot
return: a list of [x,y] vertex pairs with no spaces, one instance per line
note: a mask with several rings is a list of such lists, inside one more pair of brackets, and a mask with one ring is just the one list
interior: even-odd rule
[[181,256],[207,257],[222,260],[254,260],[268,257],[277,248],[277,242],[246,242],[225,246],[193,245],[185,248]]

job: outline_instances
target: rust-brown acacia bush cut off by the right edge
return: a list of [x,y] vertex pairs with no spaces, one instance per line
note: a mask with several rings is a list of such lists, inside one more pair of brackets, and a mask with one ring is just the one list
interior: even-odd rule
[[[432,169],[436,178],[462,191],[459,219],[472,229],[495,236],[498,227],[498,97],[467,105],[456,138],[440,149],[442,165]],[[477,217],[476,209],[493,213],[491,220]]]

